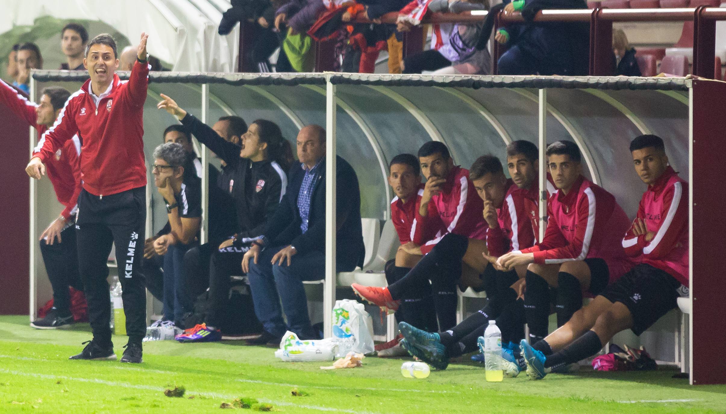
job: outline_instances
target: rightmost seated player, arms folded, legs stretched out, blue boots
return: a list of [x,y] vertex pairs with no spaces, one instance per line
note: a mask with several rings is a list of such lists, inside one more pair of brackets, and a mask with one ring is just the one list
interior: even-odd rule
[[663,140],[630,144],[635,171],[648,184],[622,245],[637,263],[544,340],[522,349],[531,378],[597,354],[621,330],[640,335],[688,296],[688,183],[668,164]]

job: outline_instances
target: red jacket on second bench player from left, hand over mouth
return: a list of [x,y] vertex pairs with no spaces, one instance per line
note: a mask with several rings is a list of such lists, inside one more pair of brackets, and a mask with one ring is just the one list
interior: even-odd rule
[[[474,190],[469,170],[454,166],[446,176],[443,190],[431,197],[428,216],[421,216],[416,209],[412,241],[421,245],[421,253],[426,254],[448,233],[484,240],[487,226],[482,211],[484,203]],[[429,234],[435,237],[426,241]]]

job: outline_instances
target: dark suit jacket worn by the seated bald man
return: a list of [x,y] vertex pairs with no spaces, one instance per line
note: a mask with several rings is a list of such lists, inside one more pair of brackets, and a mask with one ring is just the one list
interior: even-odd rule
[[[314,184],[310,201],[308,230],[301,232],[300,211],[298,210],[298,193],[303,184],[305,171],[301,163],[295,163],[287,173],[290,182],[272,219],[262,234],[268,245],[295,246],[298,253],[321,251],[325,253],[325,159],[319,166],[319,178]],[[336,190],[338,203],[336,208],[336,264],[338,272],[349,272],[363,264],[365,248],[361,228],[361,195],[358,187],[358,176],[351,165],[337,157]]]

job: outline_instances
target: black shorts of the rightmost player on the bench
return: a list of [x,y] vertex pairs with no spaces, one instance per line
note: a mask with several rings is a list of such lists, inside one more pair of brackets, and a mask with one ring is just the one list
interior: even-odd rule
[[678,306],[680,286],[681,283],[667,272],[650,264],[638,264],[605,288],[600,296],[613,304],[624,304],[633,318],[633,333],[640,335]]

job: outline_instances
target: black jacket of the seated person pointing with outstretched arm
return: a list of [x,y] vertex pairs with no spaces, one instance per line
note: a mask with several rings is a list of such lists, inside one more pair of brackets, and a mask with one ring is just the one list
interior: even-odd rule
[[240,147],[225,141],[208,125],[187,113],[181,120],[199,142],[203,143],[219,158],[227,163],[224,168],[224,182],[218,184],[227,187],[234,198],[237,210],[238,238],[256,238],[269,217],[272,217],[285,194],[287,175],[275,162],[252,162],[240,158]]

